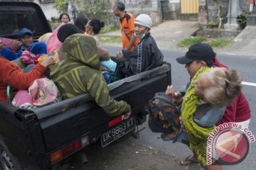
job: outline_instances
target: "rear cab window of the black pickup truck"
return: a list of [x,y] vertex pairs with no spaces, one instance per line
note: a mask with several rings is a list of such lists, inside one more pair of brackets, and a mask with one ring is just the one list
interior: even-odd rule
[[21,28],[35,30],[31,16],[20,13],[1,13],[0,14],[0,35],[18,34]]

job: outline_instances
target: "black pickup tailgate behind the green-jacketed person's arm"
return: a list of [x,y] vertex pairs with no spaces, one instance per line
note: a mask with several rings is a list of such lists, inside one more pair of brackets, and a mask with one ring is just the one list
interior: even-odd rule
[[[156,69],[116,81],[109,85],[110,95],[124,100],[132,107],[132,114],[144,112],[157,91],[165,91],[171,84],[171,66],[164,64]],[[46,152],[52,152],[82,135],[90,142],[100,138],[109,129],[108,121],[113,117],[92,101],[89,94],[69,98],[34,111],[41,126]]]

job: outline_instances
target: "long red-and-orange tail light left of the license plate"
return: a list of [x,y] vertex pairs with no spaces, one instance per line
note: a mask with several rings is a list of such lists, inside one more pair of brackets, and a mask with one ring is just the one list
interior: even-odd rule
[[50,162],[52,164],[55,164],[56,162],[59,162],[61,159],[67,157],[69,154],[81,149],[82,147],[85,147],[86,145],[89,145],[89,137],[88,136],[82,137],[81,139],[70,143],[70,145],[67,145],[67,146],[51,153],[50,154]]

